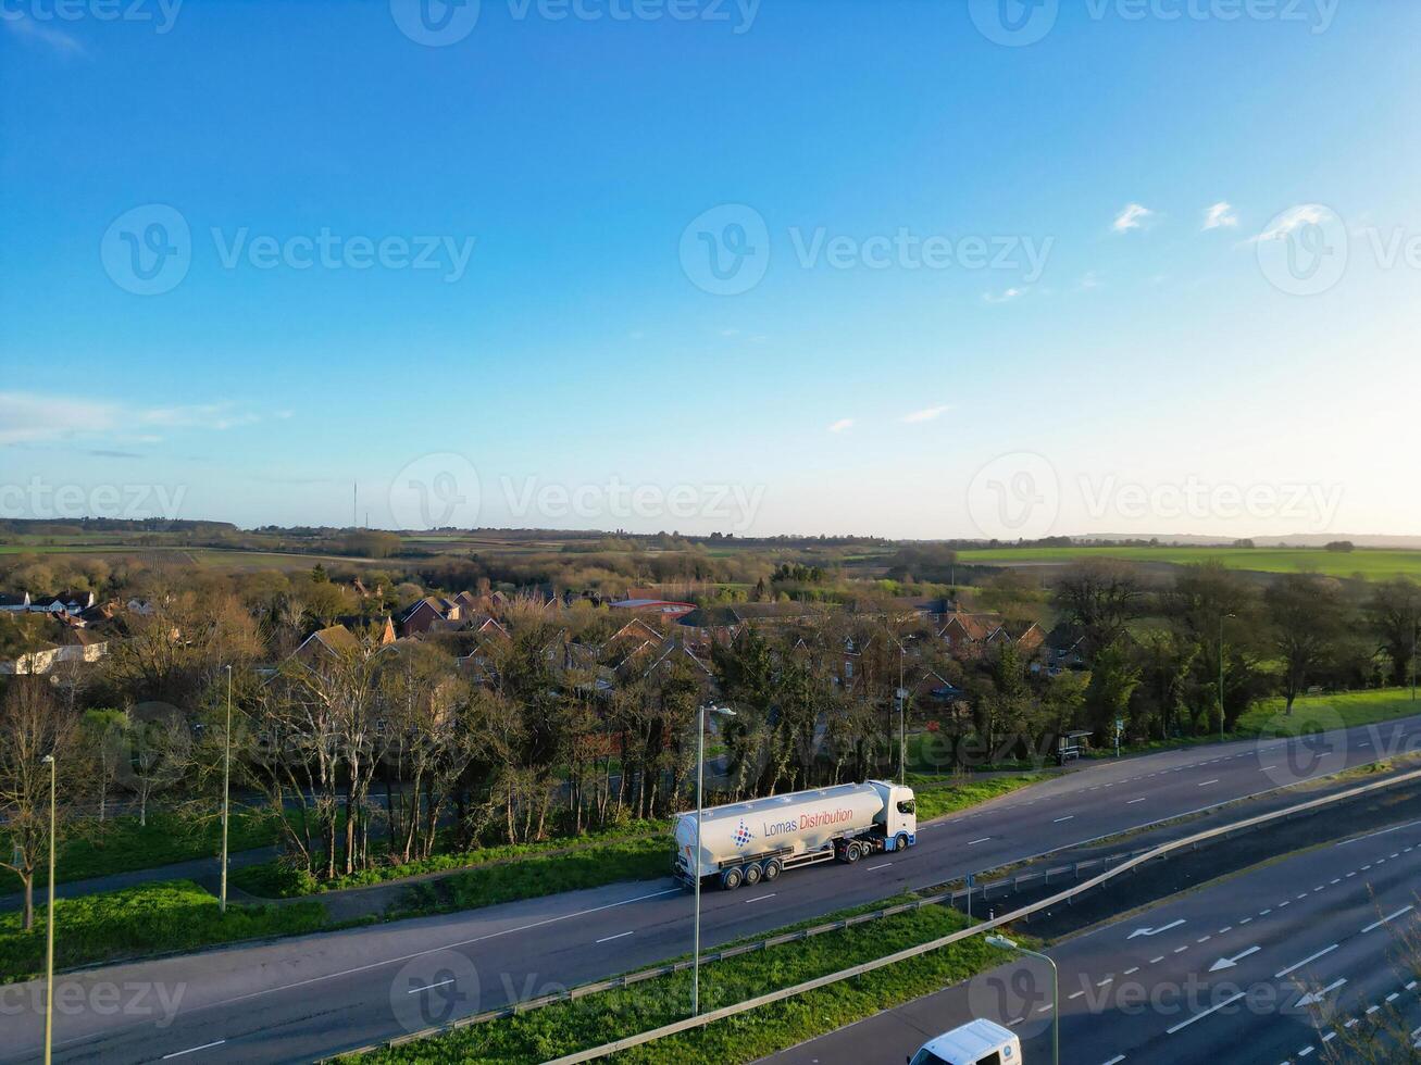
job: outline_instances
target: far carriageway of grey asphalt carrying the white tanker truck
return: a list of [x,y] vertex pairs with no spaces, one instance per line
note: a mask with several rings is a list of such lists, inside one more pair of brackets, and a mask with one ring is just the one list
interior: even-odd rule
[[[1309,740],[1098,763],[924,825],[918,846],[703,895],[703,949],[1258,795],[1421,744],[1421,719]],[[63,934],[63,929],[61,929]],[[306,1061],[685,954],[669,880],[283,939],[61,977],[55,1059]],[[37,983],[0,988],[0,1061],[43,1045]],[[1108,1056],[1108,1055],[1107,1055]]]

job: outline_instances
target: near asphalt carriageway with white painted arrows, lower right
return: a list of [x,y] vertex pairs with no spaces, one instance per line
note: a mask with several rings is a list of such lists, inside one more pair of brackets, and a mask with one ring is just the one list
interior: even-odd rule
[[[1061,1061],[1320,1061],[1317,1018],[1346,1025],[1368,1011],[1395,1011],[1415,1039],[1421,974],[1403,964],[1398,941],[1417,927],[1418,883],[1421,822],[1411,822],[1069,939],[1049,951],[1060,967]],[[1320,998],[1309,1008],[1304,995]],[[1016,1030],[1025,1065],[1039,1065],[1052,1059],[1050,1003],[1047,967],[1022,958],[764,1061],[902,1061],[934,1035],[988,1017]]]

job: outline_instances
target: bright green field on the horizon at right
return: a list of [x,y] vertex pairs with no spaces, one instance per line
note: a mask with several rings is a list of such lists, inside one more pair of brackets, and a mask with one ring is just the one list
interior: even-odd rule
[[962,562],[989,565],[1064,565],[1079,558],[1120,558],[1128,562],[1189,565],[1219,561],[1231,569],[1265,574],[1319,572],[1385,581],[1391,577],[1421,578],[1421,551],[1357,548],[1324,551],[1320,547],[1023,547],[982,548],[958,552]]

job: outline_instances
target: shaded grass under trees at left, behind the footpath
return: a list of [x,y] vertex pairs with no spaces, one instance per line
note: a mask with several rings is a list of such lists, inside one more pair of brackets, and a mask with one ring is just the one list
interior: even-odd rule
[[[146,828],[138,824],[136,816],[126,815],[102,824],[85,822],[78,835],[61,842],[55,858],[55,882],[70,883],[195,858],[216,858],[222,849],[220,838],[222,825],[216,819],[195,824],[175,814],[149,814]],[[232,815],[227,846],[233,853],[266,846],[274,839],[276,832],[266,815]],[[9,839],[0,832],[0,848],[9,846]],[[34,888],[40,890],[47,885],[48,872],[41,869],[36,873]],[[0,895],[18,890],[20,878],[9,870],[0,872]]]

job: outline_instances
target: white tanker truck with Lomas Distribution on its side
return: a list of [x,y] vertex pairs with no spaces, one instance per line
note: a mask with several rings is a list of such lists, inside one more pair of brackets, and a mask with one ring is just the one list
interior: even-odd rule
[[715,878],[726,890],[773,880],[786,869],[902,851],[918,838],[912,788],[888,781],[830,788],[710,807],[676,818],[676,879],[693,888]]

